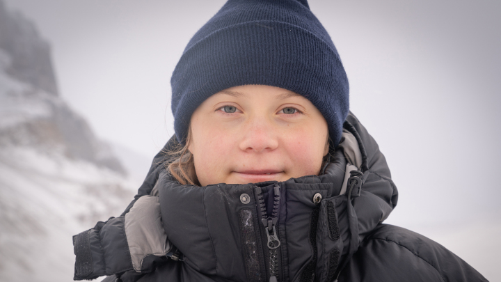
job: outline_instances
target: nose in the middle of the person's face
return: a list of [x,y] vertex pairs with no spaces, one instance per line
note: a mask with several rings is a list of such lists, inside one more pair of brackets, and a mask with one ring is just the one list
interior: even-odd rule
[[252,118],[242,128],[240,149],[246,152],[267,152],[278,147],[278,134],[271,121],[266,118]]

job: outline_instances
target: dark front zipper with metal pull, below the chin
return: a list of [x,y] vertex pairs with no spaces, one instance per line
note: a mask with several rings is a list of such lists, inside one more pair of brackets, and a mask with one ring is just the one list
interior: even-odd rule
[[276,232],[276,224],[278,222],[278,208],[280,207],[280,185],[273,187],[273,210],[271,216],[267,214],[267,207],[264,203],[261,187],[257,189],[257,202],[261,210],[261,223],[264,226],[264,233],[267,235],[267,246],[269,251],[269,264],[270,264],[270,279],[269,282],[278,281],[278,247],[280,246],[280,239]]

